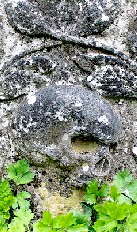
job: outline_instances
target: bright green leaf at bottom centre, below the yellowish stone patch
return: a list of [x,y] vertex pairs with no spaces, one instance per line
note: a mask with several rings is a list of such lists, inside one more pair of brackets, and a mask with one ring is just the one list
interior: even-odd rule
[[58,215],[53,220],[53,229],[64,229],[75,224],[76,218],[73,213],[68,213],[66,215]]

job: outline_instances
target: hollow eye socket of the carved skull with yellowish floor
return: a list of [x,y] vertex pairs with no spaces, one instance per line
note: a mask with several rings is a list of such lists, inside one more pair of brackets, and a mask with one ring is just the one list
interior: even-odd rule
[[78,135],[71,138],[71,146],[74,152],[89,153],[96,151],[99,144],[91,136]]

